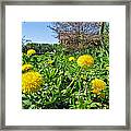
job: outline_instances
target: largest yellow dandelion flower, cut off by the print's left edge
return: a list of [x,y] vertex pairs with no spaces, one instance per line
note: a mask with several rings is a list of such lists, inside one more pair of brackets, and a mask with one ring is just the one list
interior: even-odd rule
[[41,74],[38,72],[26,72],[22,74],[22,92],[32,93],[40,88],[43,82]]

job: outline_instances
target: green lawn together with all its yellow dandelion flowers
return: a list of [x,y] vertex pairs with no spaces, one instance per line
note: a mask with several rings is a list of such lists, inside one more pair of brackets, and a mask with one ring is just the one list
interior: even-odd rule
[[108,109],[109,44],[22,53],[23,109]]

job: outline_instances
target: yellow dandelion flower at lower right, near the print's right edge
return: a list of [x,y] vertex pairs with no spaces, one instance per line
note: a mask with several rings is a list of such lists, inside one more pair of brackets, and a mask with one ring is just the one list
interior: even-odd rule
[[106,83],[103,80],[95,79],[92,81],[93,93],[98,94],[102,90],[105,90]]

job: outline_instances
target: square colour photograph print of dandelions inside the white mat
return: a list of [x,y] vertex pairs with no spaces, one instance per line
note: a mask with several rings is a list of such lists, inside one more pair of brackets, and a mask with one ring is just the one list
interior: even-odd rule
[[109,109],[109,22],[22,22],[22,109]]

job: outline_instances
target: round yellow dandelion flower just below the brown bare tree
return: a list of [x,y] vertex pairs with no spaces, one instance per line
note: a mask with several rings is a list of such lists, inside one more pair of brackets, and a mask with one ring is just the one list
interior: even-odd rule
[[90,55],[83,55],[78,58],[76,62],[80,67],[84,67],[84,66],[90,67],[94,63],[94,59]]

